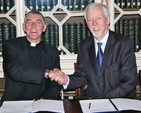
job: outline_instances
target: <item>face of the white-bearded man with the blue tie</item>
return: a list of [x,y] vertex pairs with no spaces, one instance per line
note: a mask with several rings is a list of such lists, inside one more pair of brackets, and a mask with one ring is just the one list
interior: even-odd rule
[[87,26],[97,40],[101,40],[106,35],[109,23],[109,17],[105,16],[103,9],[100,7],[96,7],[87,13]]

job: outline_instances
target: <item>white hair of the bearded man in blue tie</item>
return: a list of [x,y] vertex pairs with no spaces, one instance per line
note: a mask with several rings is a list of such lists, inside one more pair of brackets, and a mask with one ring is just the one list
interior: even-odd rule
[[91,4],[87,5],[87,7],[85,8],[85,11],[84,11],[84,18],[86,21],[87,21],[87,13],[89,11],[92,11],[96,7],[101,7],[103,9],[106,17],[110,16],[110,13],[109,13],[107,6],[105,6],[104,4],[101,4],[101,3],[91,3]]

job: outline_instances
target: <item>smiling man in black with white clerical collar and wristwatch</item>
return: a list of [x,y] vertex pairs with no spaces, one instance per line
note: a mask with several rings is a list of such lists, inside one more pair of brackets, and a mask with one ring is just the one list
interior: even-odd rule
[[62,87],[48,78],[57,74],[54,68],[60,69],[59,52],[41,41],[46,26],[40,12],[28,12],[23,24],[26,36],[3,43],[6,81],[2,101],[59,99]]

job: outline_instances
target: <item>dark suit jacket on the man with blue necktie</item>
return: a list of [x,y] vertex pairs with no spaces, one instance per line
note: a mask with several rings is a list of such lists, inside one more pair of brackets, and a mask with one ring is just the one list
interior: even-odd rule
[[137,68],[133,41],[123,35],[109,32],[100,76],[97,76],[94,44],[93,36],[79,44],[77,72],[70,76],[67,89],[87,84],[87,89],[82,92],[84,98],[135,96]]

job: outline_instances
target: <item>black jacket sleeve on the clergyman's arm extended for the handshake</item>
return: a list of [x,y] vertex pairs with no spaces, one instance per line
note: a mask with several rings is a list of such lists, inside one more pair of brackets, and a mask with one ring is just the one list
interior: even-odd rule
[[[27,63],[21,63],[20,54],[15,42],[6,41],[3,43],[3,69],[6,76],[15,82],[41,84],[44,77],[44,69],[33,68]],[[35,76],[36,75],[36,76]]]

